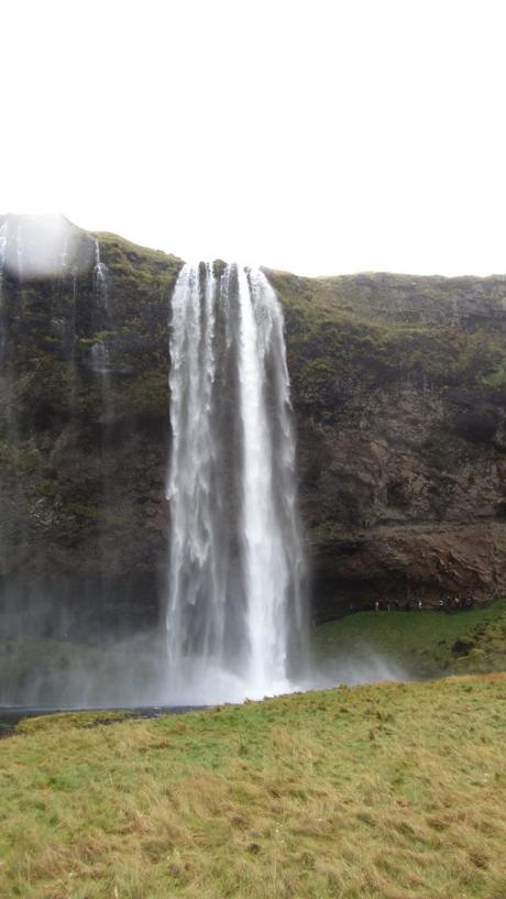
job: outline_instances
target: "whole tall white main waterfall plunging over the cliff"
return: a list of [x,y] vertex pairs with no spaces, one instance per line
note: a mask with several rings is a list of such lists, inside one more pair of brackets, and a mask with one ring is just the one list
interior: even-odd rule
[[305,564],[283,311],[265,275],[185,265],[170,362],[170,698],[286,692]]

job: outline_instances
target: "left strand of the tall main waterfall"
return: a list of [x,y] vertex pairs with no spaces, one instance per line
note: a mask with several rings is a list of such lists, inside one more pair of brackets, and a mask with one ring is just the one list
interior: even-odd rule
[[218,556],[219,497],[212,495],[218,456],[212,432],[215,289],[212,270],[206,266],[201,303],[199,268],[185,265],[173,298],[167,633],[175,670],[188,654],[222,661],[226,589]]

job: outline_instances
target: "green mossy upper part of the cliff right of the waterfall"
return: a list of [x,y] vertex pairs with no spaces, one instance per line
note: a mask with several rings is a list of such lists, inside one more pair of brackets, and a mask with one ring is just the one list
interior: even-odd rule
[[439,386],[503,385],[505,339],[494,318],[501,315],[502,282],[494,292],[491,279],[487,308],[473,294],[473,283],[483,290],[486,279],[267,275],[285,309],[290,371],[302,395],[314,364],[323,393],[331,393],[338,369],[365,386],[409,376]]

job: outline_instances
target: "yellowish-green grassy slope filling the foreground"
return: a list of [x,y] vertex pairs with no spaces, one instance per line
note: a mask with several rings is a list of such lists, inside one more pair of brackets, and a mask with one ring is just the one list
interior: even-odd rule
[[340,688],[0,743],[0,895],[499,899],[506,678]]

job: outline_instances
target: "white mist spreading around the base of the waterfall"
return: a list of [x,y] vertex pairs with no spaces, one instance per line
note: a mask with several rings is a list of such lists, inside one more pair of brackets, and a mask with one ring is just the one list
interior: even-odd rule
[[[270,695],[407,680],[413,677],[399,665],[362,646],[336,659],[310,658]],[[263,698],[238,673],[209,660],[189,656],[170,672],[160,628],[101,643],[18,635],[0,644],[0,705],[6,708],[177,708]]]

